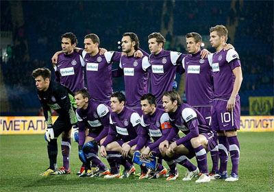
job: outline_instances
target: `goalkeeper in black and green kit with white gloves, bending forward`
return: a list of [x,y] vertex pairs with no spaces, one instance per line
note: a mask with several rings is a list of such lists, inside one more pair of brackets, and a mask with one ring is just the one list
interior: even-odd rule
[[[51,81],[51,71],[47,68],[38,68],[32,71],[36,82],[38,97],[44,110],[47,129],[45,140],[49,156],[49,168],[41,176],[63,175],[71,173],[69,154],[71,151],[71,127],[76,126],[75,100],[73,93],[58,82]],[[53,124],[51,109],[58,112],[59,117]],[[57,138],[62,134],[63,167],[57,169],[58,145]]]

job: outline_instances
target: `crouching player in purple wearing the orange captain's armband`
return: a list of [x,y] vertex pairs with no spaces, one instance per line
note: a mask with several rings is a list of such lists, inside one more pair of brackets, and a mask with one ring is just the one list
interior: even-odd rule
[[[160,153],[159,145],[163,141],[165,141],[166,137],[169,136],[172,127],[170,123],[170,118],[168,113],[164,112],[164,110],[157,108],[156,98],[154,95],[146,94],[141,97],[141,106],[142,106],[142,133],[139,136],[138,144],[136,147],[136,151],[140,150],[141,158],[147,159],[149,155],[157,156],[158,157],[158,166],[155,171],[155,174],[152,178],[158,178],[159,176],[165,175],[166,169],[162,166],[162,159],[164,159],[169,165],[169,174],[167,174],[166,180],[176,180],[179,176],[179,173],[176,168],[176,162],[173,158],[169,158],[169,156],[162,156]],[[151,137],[151,141],[149,142],[148,137]],[[178,134],[173,136],[171,141],[176,141],[179,139]],[[145,145],[145,147],[143,147]],[[143,147],[143,148],[142,148]],[[184,161],[179,162],[181,165],[186,167],[186,169],[190,171],[197,170],[195,165],[192,165],[190,161],[184,155],[179,155],[179,158],[183,158]],[[140,178],[148,178],[148,173],[142,171]],[[199,170],[197,170],[199,173]],[[186,178],[184,178],[186,179]]]

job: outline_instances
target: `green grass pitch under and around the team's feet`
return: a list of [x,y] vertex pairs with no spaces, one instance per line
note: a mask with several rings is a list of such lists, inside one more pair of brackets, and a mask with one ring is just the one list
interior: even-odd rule
[[[77,145],[72,143],[71,175],[47,176],[39,174],[48,167],[47,143],[43,135],[0,136],[0,191],[273,191],[274,132],[245,132],[238,134],[240,141],[239,181],[213,180],[196,184],[183,182],[186,169],[178,166],[179,178],[167,182],[127,179],[78,178]],[[60,139],[58,139],[60,143]],[[58,146],[58,165],[62,154]],[[105,159],[103,161],[106,163]],[[195,163],[195,160],[192,160]],[[209,169],[211,158],[208,155]],[[196,163],[195,163],[196,165]],[[231,170],[229,159],[228,170]],[[137,167],[137,166],[136,166]],[[137,173],[139,172],[139,169]]]

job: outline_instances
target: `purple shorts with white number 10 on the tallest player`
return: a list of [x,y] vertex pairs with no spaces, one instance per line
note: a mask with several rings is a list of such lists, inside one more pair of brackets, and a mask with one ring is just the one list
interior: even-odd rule
[[212,111],[212,130],[239,130],[240,129],[240,99],[236,100],[235,108],[227,111],[227,100],[214,99]]

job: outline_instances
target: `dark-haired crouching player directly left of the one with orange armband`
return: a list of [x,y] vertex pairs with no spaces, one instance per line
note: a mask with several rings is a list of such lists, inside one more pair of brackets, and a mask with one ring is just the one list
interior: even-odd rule
[[[125,95],[121,92],[111,95],[110,106],[110,130],[100,149],[101,156],[106,157],[110,164],[110,174],[105,178],[128,178],[135,171],[128,154],[138,141],[140,116],[125,106]],[[123,176],[119,173],[120,165],[125,167]]]

